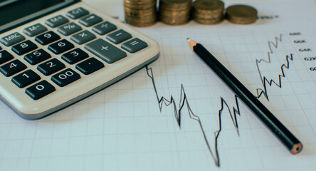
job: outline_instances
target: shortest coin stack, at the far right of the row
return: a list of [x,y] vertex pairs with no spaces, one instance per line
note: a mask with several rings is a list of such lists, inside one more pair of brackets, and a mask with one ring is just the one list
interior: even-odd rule
[[257,10],[246,5],[229,6],[225,15],[233,24],[252,24],[257,20]]

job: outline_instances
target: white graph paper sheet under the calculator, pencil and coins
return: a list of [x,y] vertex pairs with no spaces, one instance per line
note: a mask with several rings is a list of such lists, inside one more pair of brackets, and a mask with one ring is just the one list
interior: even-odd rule
[[[315,1],[250,5],[258,10],[251,25],[136,28],[159,43],[159,59],[47,118],[23,120],[0,103],[0,170],[315,170]],[[97,8],[123,19],[122,6]],[[235,97],[188,37],[301,140],[300,154]]]

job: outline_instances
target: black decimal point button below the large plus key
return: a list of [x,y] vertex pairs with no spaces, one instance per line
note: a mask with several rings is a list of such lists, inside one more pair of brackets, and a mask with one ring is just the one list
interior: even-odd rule
[[104,64],[98,61],[96,58],[89,58],[81,63],[78,63],[75,68],[78,69],[81,73],[88,75],[95,71],[98,71],[100,68],[103,68]]

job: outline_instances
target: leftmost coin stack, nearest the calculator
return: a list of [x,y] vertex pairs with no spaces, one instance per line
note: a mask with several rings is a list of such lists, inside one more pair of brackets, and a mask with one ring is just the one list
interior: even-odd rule
[[125,21],[132,26],[152,26],[157,21],[157,0],[124,0]]

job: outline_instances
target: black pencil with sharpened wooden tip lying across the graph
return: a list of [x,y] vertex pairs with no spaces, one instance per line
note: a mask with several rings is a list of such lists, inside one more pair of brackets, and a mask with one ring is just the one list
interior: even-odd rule
[[216,75],[221,78],[221,81],[228,86],[233,93],[237,95],[239,99],[246,104],[246,106],[255,114],[262,123],[268,127],[268,129],[281,141],[283,145],[295,155],[302,150],[302,143],[297,140],[295,136],[290,133],[288,128],[280,123],[278,118],[265,108],[260,101],[228,71],[209,51],[196,41],[192,41],[188,38],[189,45],[194,51],[211,69]]

